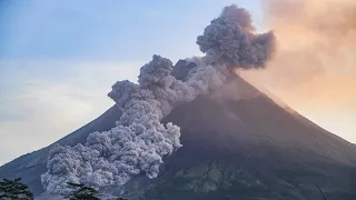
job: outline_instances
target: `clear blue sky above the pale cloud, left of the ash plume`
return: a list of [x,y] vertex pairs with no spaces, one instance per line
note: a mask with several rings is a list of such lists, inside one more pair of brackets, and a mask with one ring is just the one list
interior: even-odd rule
[[196,37],[233,2],[255,11],[258,1],[4,0],[2,59],[147,60],[198,53]]

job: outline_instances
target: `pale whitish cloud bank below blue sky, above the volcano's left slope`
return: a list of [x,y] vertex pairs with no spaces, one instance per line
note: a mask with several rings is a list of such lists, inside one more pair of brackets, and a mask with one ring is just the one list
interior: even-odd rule
[[[46,147],[101,114],[118,79],[136,80],[140,62],[1,61],[0,166]],[[16,148],[14,148],[16,147]]]

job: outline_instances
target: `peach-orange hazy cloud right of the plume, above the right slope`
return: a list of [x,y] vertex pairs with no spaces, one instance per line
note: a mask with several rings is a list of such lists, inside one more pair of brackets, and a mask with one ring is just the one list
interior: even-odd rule
[[263,2],[265,26],[277,38],[277,53],[266,70],[247,76],[322,127],[355,142],[354,123],[338,129],[328,122],[339,123],[343,114],[356,118],[356,2]]

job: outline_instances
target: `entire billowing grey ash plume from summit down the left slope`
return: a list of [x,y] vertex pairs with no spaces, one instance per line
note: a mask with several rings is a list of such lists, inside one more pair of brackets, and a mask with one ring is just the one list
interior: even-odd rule
[[179,127],[162,124],[161,119],[179,103],[221,87],[228,68],[260,68],[271,56],[274,34],[253,31],[246,10],[226,7],[198,37],[206,57],[179,61],[174,70],[170,60],[154,56],[141,68],[139,84],[115,83],[109,97],[122,110],[117,127],[89,134],[85,146],[56,144],[49,153],[48,172],[41,177],[46,190],[66,193],[67,182],[97,189],[122,187],[140,173],[156,178],[164,157],[181,147]]

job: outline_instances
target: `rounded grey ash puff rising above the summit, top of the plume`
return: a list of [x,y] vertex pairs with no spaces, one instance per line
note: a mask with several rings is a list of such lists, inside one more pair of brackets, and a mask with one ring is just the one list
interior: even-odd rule
[[250,14],[237,6],[226,7],[197,38],[209,63],[256,69],[265,66],[275,49],[273,32],[255,34]]

